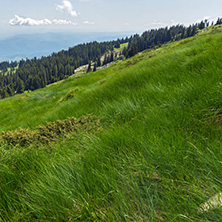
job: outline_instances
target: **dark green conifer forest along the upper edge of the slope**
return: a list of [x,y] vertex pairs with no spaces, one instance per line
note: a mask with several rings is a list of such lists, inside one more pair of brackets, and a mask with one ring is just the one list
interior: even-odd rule
[[[222,24],[222,19],[218,18],[216,25],[218,24]],[[128,47],[123,50],[124,56],[129,58],[143,50],[160,47],[170,41],[192,37],[198,30],[207,26],[209,26],[209,22],[202,21],[189,27],[177,25],[152,29],[142,35],[136,34],[115,41],[80,44],[39,59],[27,58],[19,62],[2,62],[0,63],[0,98],[23,93],[26,90],[44,88],[50,83],[73,75],[76,68],[91,64],[91,62],[97,63],[98,67],[101,65],[99,64],[101,56],[113,51],[114,47],[118,48],[122,43],[129,43]],[[112,53],[110,58],[105,57],[103,65],[111,62],[113,60],[111,57],[113,57]]]

